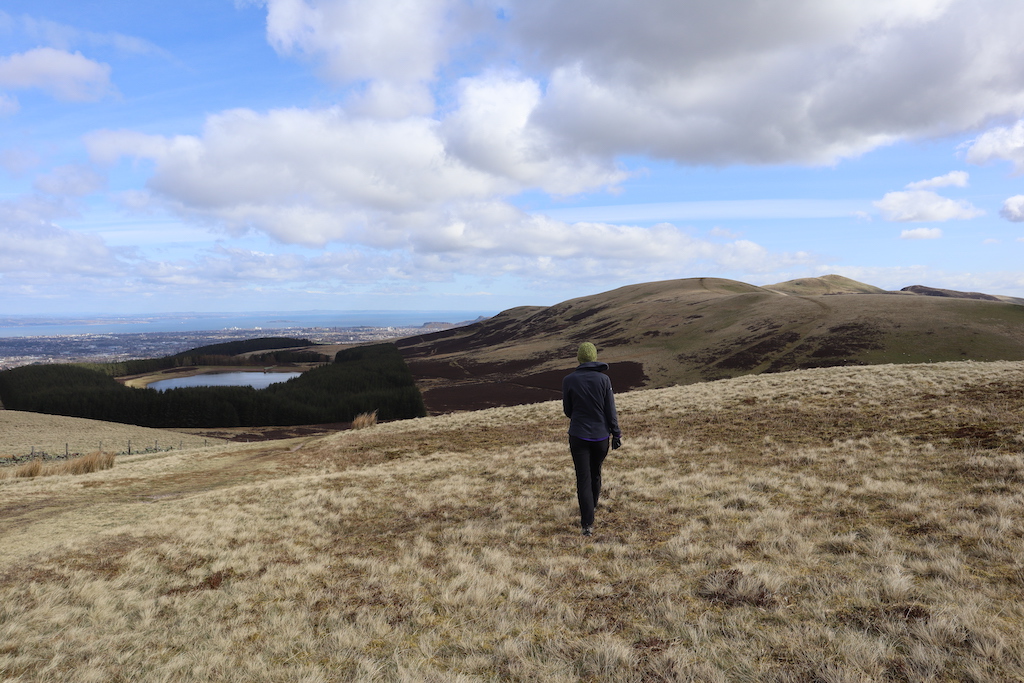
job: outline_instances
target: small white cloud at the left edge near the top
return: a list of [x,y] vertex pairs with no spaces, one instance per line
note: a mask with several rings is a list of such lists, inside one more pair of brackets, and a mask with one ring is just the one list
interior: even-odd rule
[[0,57],[0,88],[39,88],[65,101],[93,101],[113,90],[111,68],[51,47]]

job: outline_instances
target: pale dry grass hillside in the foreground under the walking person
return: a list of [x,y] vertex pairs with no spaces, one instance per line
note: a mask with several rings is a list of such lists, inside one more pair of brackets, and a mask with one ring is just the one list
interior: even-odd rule
[[0,481],[7,681],[1024,680],[1024,362],[624,393]]

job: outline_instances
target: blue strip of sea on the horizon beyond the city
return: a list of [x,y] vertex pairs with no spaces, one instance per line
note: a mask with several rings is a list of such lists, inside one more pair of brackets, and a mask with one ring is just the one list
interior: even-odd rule
[[307,328],[418,327],[426,323],[464,323],[495,311],[351,310],[263,311],[248,313],[160,313],[154,315],[4,315],[0,338],[145,332],[214,332]]

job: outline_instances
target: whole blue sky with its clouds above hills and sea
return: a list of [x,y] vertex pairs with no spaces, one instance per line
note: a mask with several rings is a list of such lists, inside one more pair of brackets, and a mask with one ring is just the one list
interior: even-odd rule
[[4,0],[0,313],[1024,297],[1020,0]]

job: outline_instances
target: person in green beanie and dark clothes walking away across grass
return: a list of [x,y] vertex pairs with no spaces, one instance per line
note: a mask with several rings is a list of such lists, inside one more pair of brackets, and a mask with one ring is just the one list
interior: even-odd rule
[[611,447],[622,445],[618,414],[611,380],[604,372],[608,364],[598,362],[597,347],[580,344],[580,365],[562,380],[562,410],[569,418],[569,453],[577,473],[580,525],[584,536],[594,532],[594,508],[601,497],[601,465]]

